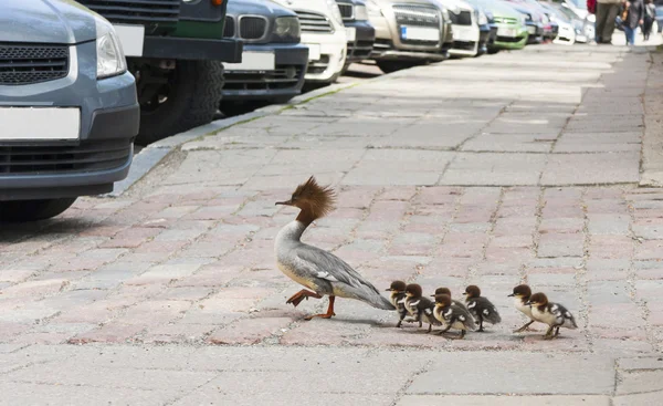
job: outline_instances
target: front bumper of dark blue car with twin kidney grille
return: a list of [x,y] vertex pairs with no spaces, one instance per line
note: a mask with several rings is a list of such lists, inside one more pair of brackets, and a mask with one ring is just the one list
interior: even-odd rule
[[302,93],[308,64],[306,45],[245,44],[244,52],[273,53],[274,69],[225,65],[223,101],[271,100]]

